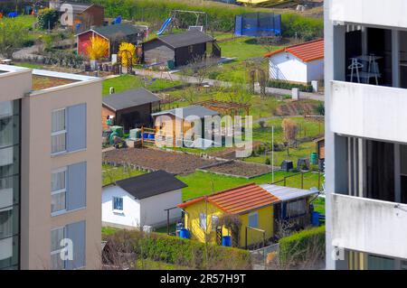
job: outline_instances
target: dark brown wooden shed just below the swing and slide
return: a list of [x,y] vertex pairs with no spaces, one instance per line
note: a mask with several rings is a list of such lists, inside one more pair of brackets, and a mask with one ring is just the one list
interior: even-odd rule
[[143,43],[144,62],[148,65],[161,63],[174,67],[206,57],[221,58],[221,48],[211,36],[190,30],[161,36]]

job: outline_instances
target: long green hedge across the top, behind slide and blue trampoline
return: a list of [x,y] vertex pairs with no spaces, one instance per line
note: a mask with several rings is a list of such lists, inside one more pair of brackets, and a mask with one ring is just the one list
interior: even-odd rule
[[[222,5],[213,2],[168,1],[168,0],[88,0],[103,5],[107,17],[122,16],[124,19],[161,24],[174,9],[203,11],[209,15],[209,26],[213,31],[231,32],[234,29],[234,17],[237,14],[256,11],[270,11],[242,6]],[[185,23],[194,23],[195,16],[183,14]],[[321,38],[324,34],[322,18],[305,17],[297,13],[281,15],[282,35],[299,37],[305,41]]]

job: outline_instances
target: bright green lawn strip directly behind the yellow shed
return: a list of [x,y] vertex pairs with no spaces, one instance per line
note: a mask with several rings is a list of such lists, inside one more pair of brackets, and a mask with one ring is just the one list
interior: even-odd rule
[[[294,174],[295,173],[290,172],[280,172],[280,171],[275,172],[274,181],[282,180],[284,176]],[[184,181],[188,185],[188,187],[183,189],[183,200],[189,200],[203,195],[212,194],[213,192],[227,190],[247,183],[252,182],[258,184],[270,183],[271,173],[250,180],[227,177],[208,172],[194,172],[186,176],[177,176],[177,178],[181,181]],[[282,182],[279,184],[283,185]],[[287,186],[300,188],[301,187],[300,175],[287,179]],[[318,186],[317,173],[308,173],[304,175],[304,189],[310,189],[311,187],[317,186]]]

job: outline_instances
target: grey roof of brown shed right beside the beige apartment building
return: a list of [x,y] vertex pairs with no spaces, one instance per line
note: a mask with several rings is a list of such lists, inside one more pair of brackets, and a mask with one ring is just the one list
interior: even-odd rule
[[103,105],[113,111],[136,107],[147,103],[158,102],[160,98],[148,91],[146,88],[131,89],[125,92],[116,93],[103,98]]

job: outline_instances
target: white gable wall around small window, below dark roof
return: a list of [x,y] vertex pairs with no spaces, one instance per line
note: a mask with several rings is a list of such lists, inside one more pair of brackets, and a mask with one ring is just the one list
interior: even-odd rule
[[[113,211],[113,197],[123,198],[123,213]],[[102,190],[102,222],[104,226],[140,227],[140,202],[116,185]],[[110,225],[111,224],[111,225]]]

